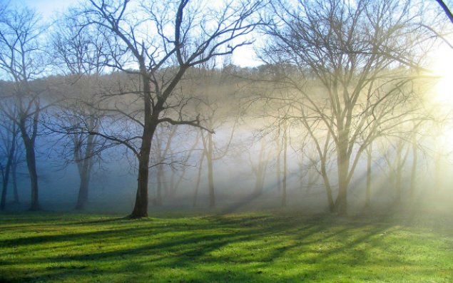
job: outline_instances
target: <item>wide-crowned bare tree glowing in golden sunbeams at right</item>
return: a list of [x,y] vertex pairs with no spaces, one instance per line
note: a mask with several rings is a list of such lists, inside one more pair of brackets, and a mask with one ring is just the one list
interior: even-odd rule
[[[393,0],[272,4],[274,24],[265,33],[275,43],[264,54],[297,67],[299,76],[287,76],[286,82],[302,96],[295,101],[316,114],[313,118],[335,143],[339,187],[335,210],[345,215],[347,187],[362,151],[383,120],[397,120],[397,115],[385,116],[385,110],[377,109],[388,101],[401,106],[409,95],[405,88],[415,78],[412,72],[419,69],[417,41],[412,40],[419,36],[414,24],[417,11],[409,2]],[[316,80],[303,79],[307,70]]]

